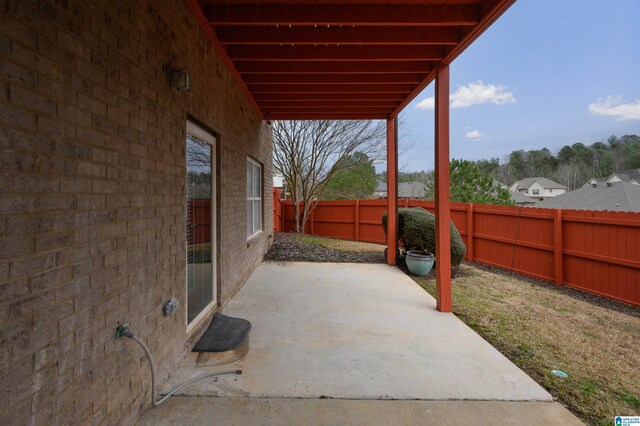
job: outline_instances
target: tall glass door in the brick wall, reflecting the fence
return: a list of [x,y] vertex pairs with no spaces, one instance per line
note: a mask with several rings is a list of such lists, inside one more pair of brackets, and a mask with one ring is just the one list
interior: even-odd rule
[[216,194],[213,135],[187,122],[187,324],[216,302]]

